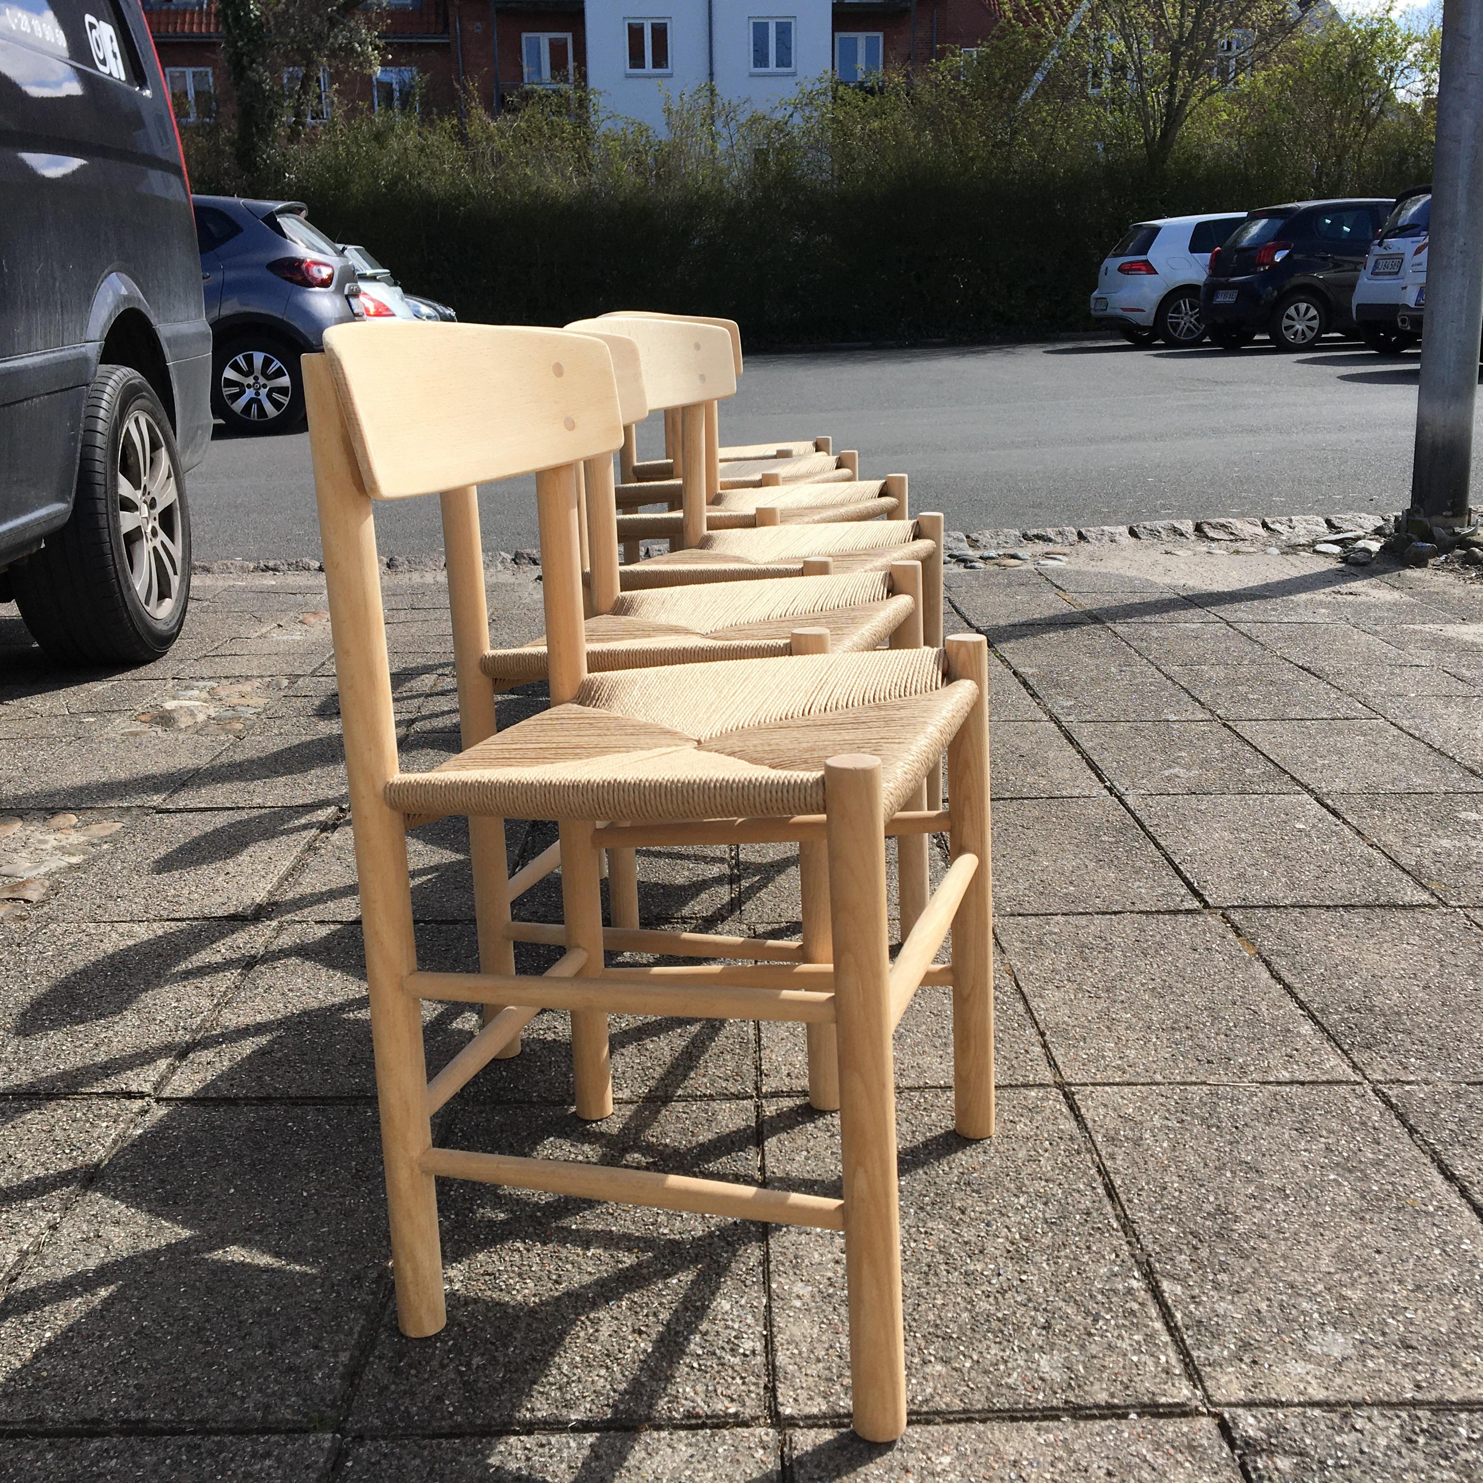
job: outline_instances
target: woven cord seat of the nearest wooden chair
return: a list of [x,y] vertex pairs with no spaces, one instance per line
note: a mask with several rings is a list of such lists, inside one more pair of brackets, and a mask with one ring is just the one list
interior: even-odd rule
[[977,698],[939,650],[822,654],[592,675],[571,703],[397,774],[411,814],[725,819],[823,813],[825,761],[869,746],[903,808]]

